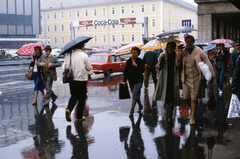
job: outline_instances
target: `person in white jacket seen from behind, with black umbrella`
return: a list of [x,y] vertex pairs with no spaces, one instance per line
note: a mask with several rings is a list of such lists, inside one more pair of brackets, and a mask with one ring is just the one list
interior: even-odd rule
[[77,122],[85,120],[85,118],[83,118],[83,110],[87,97],[87,71],[91,71],[92,66],[88,55],[83,52],[83,48],[85,43],[91,38],[92,37],[87,36],[78,37],[66,44],[61,52],[61,54],[68,53],[65,56],[64,69],[69,68],[71,64],[73,72],[73,80],[69,82],[71,97],[65,111],[66,120],[68,122],[71,122],[71,112],[77,101]]

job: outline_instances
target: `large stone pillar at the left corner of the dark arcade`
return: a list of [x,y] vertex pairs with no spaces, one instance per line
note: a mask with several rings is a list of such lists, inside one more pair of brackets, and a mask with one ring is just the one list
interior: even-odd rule
[[212,15],[198,15],[198,39],[209,43],[212,41]]

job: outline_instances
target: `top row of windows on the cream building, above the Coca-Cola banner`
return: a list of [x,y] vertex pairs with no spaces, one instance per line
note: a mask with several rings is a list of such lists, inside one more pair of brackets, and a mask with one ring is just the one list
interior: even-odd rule
[[[145,12],[145,6],[144,4],[142,4],[140,6],[140,11],[141,13],[144,13]],[[152,4],[151,6],[151,11],[152,12],[156,12],[156,4]],[[121,14],[125,14],[125,7],[120,7],[120,13]],[[131,14],[134,14],[135,13],[135,6],[130,6],[130,13]],[[112,7],[111,8],[111,15],[115,15],[116,14],[116,10],[115,10],[115,7]],[[84,10],[84,17],[88,17],[89,16],[89,11],[88,9],[85,9]],[[93,16],[97,16],[97,9],[93,9]],[[106,8],[102,8],[102,16],[106,16]],[[49,13],[46,13],[46,17],[47,17],[47,20],[50,19],[50,14]],[[80,11],[77,10],[76,11],[76,18],[79,18],[80,17]],[[60,12],[60,18],[63,19],[64,18],[64,12]],[[72,11],[68,11],[68,18],[72,18]],[[53,13],[53,19],[57,19],[57,13],[54,12]],[[41,20],[42,20],[42,14],[41,14]]]

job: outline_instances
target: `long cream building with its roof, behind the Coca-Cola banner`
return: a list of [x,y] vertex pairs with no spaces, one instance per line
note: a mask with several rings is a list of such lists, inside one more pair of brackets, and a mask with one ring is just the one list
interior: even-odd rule
[[[71,40],[71,22],[79,21],[148,17],[148,37],[181,27],[182,20],[191,20],[191,27],[195,29],[198,26],[197,8],[181,0],[71,1],[41,1],[41,35],[38,38],[50,39],[48,44],[62,47]],[[101,47],[142,43],[143,37],[147,36],[142,23],[115,24],[82,25],[75,28],[75,37],[92,36],[88,45]],[[191,34],[197,38],[197,33]],[[179,38],[183,39],[183,36],[180,35]]]

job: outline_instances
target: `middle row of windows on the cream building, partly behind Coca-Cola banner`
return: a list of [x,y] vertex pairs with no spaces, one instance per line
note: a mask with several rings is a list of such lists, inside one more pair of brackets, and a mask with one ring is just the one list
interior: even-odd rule
[[[156,27],[156,20],[155,19],[152,19],[151,26],[152,27]],[[131,28],[134,28],[134,27],[135,27],[135,24],[131,24]],[[142,23],[141,27],[144,28],[144,24],[143,23]],[[94,28],[94,30],[97,30],[98,26],[94,25],[93,28]],[[124,29],[125,25],[122,24],[121,28]],[[50,26],[49,25],[47,25],[46,29],[47,29],[47,32],[50,32]],[[102,29],[105,30],[106,29],[106,25],[103,25]],[[112,25],[112,29],[115,29],[115,25]],[[60,30],[64,31],[64,24],[61,24]],[[71,31],[71,24],[69,24],[68,30]],[[77,27],[77,30],[79,31],[80,27]],[[85,27],[85,30],[88,30],[88,26]],[[57,32],[57,25],[53,25],[53,31]],[[41,32],[43,32],[43,27],[42,26],[41,26]]]

